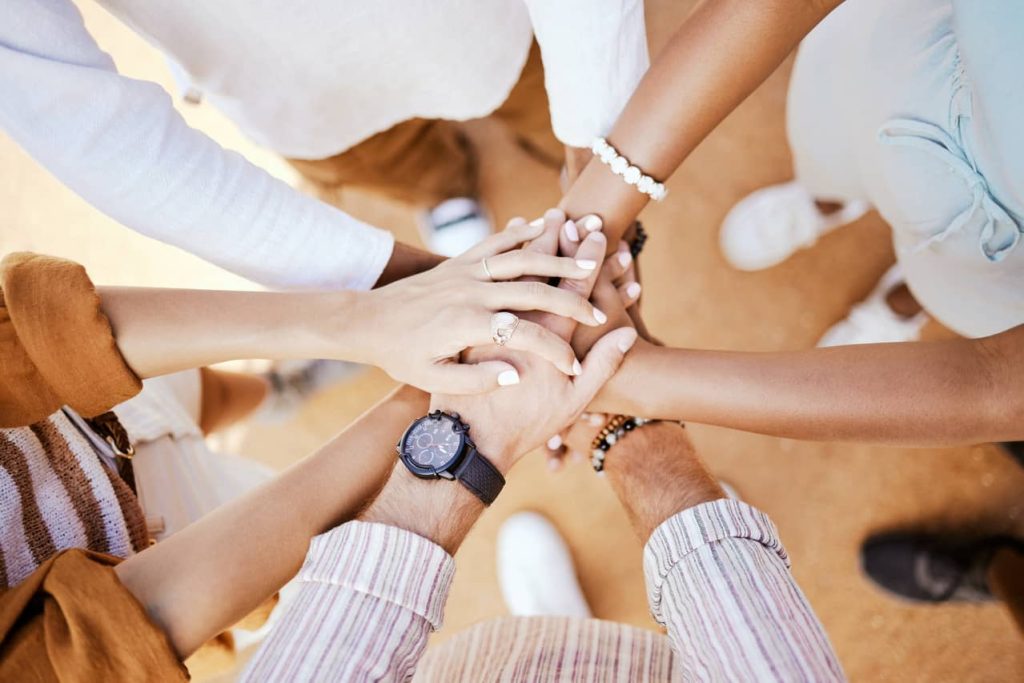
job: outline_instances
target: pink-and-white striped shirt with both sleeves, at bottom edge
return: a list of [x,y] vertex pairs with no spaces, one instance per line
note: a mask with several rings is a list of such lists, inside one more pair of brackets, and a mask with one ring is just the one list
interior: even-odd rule
[[349,522],[313,540],[299,596],[243,680],[844,680],[764,513],[730,500],[684,510],[654,530],[643,562],[668,638],[598,620],[509,617],[424,656],[454,560],[415,533]]

